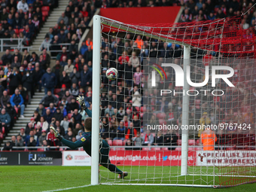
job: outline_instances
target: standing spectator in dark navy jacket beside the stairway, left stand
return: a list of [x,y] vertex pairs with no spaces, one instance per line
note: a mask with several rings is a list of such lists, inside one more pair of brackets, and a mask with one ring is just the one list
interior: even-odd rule
[[47,72],[44,73],[43,77],[41,78],[42,86],[44,87],[44,93],[47,94],[47,90],[50,90],[53,93],[54,87],[56,87],[57,79],[56,75],[51,72],[50,67],[47,68]]

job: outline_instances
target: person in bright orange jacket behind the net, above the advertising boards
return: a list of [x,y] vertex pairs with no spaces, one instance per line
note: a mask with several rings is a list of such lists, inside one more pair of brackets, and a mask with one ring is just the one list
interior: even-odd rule
[[200,141],[203,144],[203,151],[213,151],[217,137],[210,126],[206,126],[206,130],[201,134]]

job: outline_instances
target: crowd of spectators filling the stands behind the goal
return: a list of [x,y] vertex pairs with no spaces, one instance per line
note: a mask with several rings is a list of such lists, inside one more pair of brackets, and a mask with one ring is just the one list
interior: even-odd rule
[[[26,4],[24,1],[21,3]],[[14,16],[31,18],[33,11],[36,12],[38,9],[36,5],[41,3],[36,0],[31,4],[32,8],[29,6],[26,11],[19,10],[19,13],[14,14]],[[50,1],[50,4],[56,6],[57,2]],[[175,4],[184,6],[181,22],[240,15],[242,11],[251,6],[251,2],[237,2],[236,0],[230,2],[211,0],[194,2],[190,0],[175,2]],[[86,41],[83,41],[80,50],[78,50],[77,44],[96,8],[166,5],[171,5],[171,2],[165,0],[149,1],[147,5],[141,0],[138,2],[112,1],[111,3],[105,1],[70,1],[66,11],[59,17],[56,26],[50,28],[45,35],[45,40],[41,46],[42,53],[39,56],[35,52],[30,55],[28,50],[23,50],[23,53],[14,50],[13,54],[10,53],[10,50],[5,50],[5,55],[2,56],[2,69],[0,70],[2,108],[0,134],[2,137],[11,130],[17,117],[23,117],[24,108],[26,104],[30,103],[35,93],[35,87],[38,87],[39,91],[42,90],[41,87],[44,87],[45,96],[41,99],[26,127],[20,130],[18,136],[11,137],[11,142],[5,144],[4,150],[10,150],[14,146],[45,146],[48,149],[50,146],[59,147],[61,143],[55,138],[49,126],[55,126],[61,136],[72,142],[80,138],[83,132],[82,122],[87,114],[80,111],[81,108],[75,98],[76,96],[85,96],[87,108],[92,109],[93,43],[90,38],[87,38]],[[4,8],[3,5],[1,6],[2,25],[0,29],[9,23],[8,19],[2,20],[2,15],[5,14],[5,11],[11,12],[10,10],[15,7],[8,8],[5,6],[6,8]],[[6,10],[4,11],[4,9]],[[30,12],[29,9],[31,9]],[[22,15],[23,12],[27,14]],[[254,15],[253,8],[243,16],[243,29],[254,26]],[[32,20],[30,19],[28,22],[32,22]],[[24,26],[26,32],[26,25]],[[14,27],[16,26],[14,25]],[[8,26],[9,28],[10,26]],[[0,31],[4,32],[2,29]],[[249,29],[250,32],[253,32],[252,28]],[[59,44],[62,43],[70,43],[70,45],[60,47]],[[47,53],[47,47],[50,47],[50,50],[61,51],[53,52],[50,55]],[[197,50],[196,52],[198,53]],[[51,56],[56,56],[56,64],[52,69],[50,68]],[[203,51],[200,56],[215,59],[218,54],[213,53],[213,51],[212,53]],[[148,84],[151,75],[147,72],[147,66],[150,59],[153,58],[158,58],[158,62],[163,61],[164,58],[172,58],[175,64],[182,66],[182,57],[181,46],[166,44],[147,37],[142,38],[140,35],[132,37],[127,34],[125,41],[119,37],[102,38],[102,123],[100,130],[103,139],[108,140],[110,145],[126,145],[127,148],[135,145],[138,149],[144,145],[180,145],[181,138],[175,130],[146,130],[147,125],[156,126],[163,123],[181,125],[182,118],[181,96],[169,97],[165,95],[162,97],[159,95],[160,93],[154,91],[151,84]],[[118,69],[117,81],[109,81],[106,78],[105,72],[110,67]],[[233,90],[224,87],[223,84],[218,84],[228,93],[227,96],[191,97],[189,114],[190,124],[208,125],[213,123],[218,125],[218,123],[232,123],[233,120],[240,123],[250,123],[251,130],[247,130],[245,133],[239,132],[239,130],[237,132],[229,130],[224,133],[215,133],[216,144],[230,145],[230,148],[237,145],[251,146],[255,144],[255,111],[250,105],[251,101],[255,100],[256,94],[254,93],[256,90],[246,88],[254,87],[248,81],[251,82],[254,74],[254,70],[251,69],[255,69],[255,67],[250,65],[234,67],[236,68],[236,75],[233,82],[239,85],[236,94],[232,96]],[[202,69],[203,66],[192,69],[193,79],[203,79]],[[175,79],[171,70],[166,69],[166,73]],[[248,77],[249,80],[247,81]],[[157,82],[157,87],[168,90],[176,89],[173,82],[167,83],[158,76]],[[203,130],[197,134],[197,140],[191,139],[190,145],[199,144]]]

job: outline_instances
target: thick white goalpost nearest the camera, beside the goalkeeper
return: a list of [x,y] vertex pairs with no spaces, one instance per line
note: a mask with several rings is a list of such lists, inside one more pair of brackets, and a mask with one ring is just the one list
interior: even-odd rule
[[101,19],[93,17],[93,107],[92,107],[92,166],[90,183],[99,184],[99,105],[101,62]]

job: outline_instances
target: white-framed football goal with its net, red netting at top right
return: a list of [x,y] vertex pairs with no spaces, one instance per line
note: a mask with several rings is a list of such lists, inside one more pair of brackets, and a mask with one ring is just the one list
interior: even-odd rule
[[98,168],[100,184],[255,181],[254,29],[239,17],[133,25],[97,16],[93,30],[93,148],[100,134],[111,163],[129,172],[117,178],[93,151],[94,184]]

